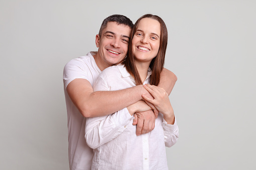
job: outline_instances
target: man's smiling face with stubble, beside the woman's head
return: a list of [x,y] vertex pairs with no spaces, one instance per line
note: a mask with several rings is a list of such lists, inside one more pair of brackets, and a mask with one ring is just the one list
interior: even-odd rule
[[101,37],[96,36],[96,46],[99,48],[97,65],[109,67],[122,61],[128,51],[130,33],[129,26],[109,22]]

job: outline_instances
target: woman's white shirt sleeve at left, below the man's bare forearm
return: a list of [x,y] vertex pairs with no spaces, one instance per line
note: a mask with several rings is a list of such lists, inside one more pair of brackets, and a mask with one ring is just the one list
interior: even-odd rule
[[133,118],[127,108],[108,116],[87,118],[85,138],[88,146],[94,149],[116,138],[132,125]]

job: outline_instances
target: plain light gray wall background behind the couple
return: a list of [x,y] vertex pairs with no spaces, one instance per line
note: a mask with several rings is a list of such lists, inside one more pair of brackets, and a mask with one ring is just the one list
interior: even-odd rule
[[170,169],[256,169],[255,1],[3,1],[0,169],[68,169],[62,72],[96,51],[102,21],[151,13],[168,29],[165,68],[180,138]]

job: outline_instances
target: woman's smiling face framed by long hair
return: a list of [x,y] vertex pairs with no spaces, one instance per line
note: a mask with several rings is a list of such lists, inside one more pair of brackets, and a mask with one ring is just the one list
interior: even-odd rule
[[140,20],[132,39],[135,61],[151,62],[160,46],[160,23],[151,18]]

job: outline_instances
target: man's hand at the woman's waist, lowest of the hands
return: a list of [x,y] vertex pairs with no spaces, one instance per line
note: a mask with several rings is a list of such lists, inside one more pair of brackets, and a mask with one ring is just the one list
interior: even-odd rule
[[136,135],[148,133],[152,131],[155,127],[155,115],[152,110],[144,112],[136,112],[133,115],[133,125],[137,124]]

